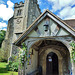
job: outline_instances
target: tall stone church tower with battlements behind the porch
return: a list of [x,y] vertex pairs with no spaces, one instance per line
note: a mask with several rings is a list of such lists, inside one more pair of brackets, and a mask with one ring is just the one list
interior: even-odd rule
[[37,0],[25,0],[25,2],[15,3],[14,15],[8,21],[5,40],[2,49],[8,51],[8,57],[16,54],[17,47],[13,42],[32,24],[41,14]]

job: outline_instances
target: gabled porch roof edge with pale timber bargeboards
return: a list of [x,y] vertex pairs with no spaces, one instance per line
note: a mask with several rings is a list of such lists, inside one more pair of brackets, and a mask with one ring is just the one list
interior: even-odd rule
[[21,44],[26,38],[27,35],[37,26],[38,23],[40,23],[46,16],[53,19],[55,22],[57,22],[62,28],[64,28],[66,31],[68,31],[70,34],[72,34],[75,37],[75,29],[70,27],[67,23],[65,23],[63,20],[61,20],[58,16],[50,12],[49,10],[46,10],[44,13],[42,13],[24,32],[23,34],[14,42],[15,45]]

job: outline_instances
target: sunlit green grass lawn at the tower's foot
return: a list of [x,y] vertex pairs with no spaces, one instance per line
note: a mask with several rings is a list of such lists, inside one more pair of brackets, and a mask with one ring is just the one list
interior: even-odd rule
[[18,72],[7,71],[7,63],[0,62],[0,75],[18,75]]

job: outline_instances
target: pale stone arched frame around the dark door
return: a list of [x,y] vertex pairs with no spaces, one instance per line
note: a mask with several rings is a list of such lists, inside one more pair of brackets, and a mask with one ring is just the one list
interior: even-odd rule
[[62,64],[62,60],[63,57],[60,54],[60,52],[58,50],[55,50],[53,48],[47,48],[46,50],[44,50],[45,53],[43,54],[43,63],[42,63],[42,71],[43,71],[43,75],[46,75],[46,57],[50,52],[55,53],[58,56],[58,73],[59,75],[63,75],[63,64]]

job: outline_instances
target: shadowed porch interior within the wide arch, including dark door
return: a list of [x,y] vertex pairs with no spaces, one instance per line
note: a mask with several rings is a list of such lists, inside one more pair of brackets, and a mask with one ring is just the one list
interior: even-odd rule
[[27,65],[26,72],[28,74],[36,72],[37,69],[39,69],[40,75],[71,74],[70,52],[63,43],[54,40],[41,40],[34,43],[30,50],[33,54],[30,59],[31,64]]

